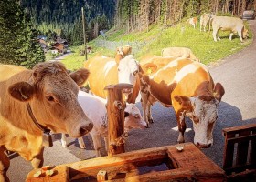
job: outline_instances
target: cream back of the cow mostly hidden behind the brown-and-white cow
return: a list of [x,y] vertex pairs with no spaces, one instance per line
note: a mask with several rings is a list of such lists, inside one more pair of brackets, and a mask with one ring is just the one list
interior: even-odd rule
[[190,58],[194,61],[200,62],[200,60],[195,56],[190,48],[187,47],[167,47],[164,48],[161,52],[162,56],[174,56],[182,58]]

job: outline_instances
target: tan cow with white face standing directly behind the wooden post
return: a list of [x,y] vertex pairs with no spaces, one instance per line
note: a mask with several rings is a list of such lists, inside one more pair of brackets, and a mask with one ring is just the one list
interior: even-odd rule
[[[105,86],[118,83],[136,85],[136,77],[139,65],[131,53],[132,47],[129,45],[118,47],[115,59],[106,56],[95,56],[86,61],[84,66],[91,70],[88,83],[91,92],[102,98],[107,97]],[[134,91],[128,96],[128,103],[134,103],[139,90]]]

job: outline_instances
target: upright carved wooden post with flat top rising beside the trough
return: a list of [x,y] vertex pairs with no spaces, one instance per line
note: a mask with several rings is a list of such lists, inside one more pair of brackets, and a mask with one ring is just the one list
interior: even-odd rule
[[124,151],[124,108],[123,89],[133,89],[130,84],[110,85],[108,90],[108,155],[120,154]]

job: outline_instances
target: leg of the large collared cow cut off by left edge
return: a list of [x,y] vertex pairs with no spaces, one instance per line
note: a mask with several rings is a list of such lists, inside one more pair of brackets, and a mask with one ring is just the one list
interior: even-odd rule
[[5,155],[5,148],[0,147],[0,181],[9,182],[7,170],[10,167],[10,159]]

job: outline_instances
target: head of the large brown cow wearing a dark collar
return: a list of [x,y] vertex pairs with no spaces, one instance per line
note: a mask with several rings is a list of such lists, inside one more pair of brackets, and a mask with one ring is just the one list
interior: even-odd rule
[[73,137],[90,132],[93,124],[77,99],[78,85],[86,81],[89,71],[83,68],[68,75],[61,63],[48,62],[38,64],[31,72],[27,82],[10,86],[9,94],[29,103],[37,122],[53,132]]

